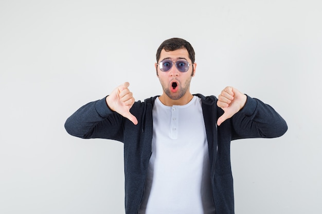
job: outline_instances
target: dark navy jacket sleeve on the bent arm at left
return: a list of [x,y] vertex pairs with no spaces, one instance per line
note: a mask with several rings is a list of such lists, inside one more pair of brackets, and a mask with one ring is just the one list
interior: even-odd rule
[[66,131],[79,138],[103,138],[123,142],[123,117],[112,111],[105,98],[87,103],[65,122]]

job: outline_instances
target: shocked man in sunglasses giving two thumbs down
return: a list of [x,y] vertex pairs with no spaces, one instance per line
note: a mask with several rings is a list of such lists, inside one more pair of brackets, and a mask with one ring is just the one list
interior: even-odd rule
[[162,95],[135,102],[124,83],[71,115],[67,132],[123,142],[126,213],[234,213],[230,141],[280,137],[287,124],[233,87],[192,95],[194,50],[181,38],[164,41],[156,62]]

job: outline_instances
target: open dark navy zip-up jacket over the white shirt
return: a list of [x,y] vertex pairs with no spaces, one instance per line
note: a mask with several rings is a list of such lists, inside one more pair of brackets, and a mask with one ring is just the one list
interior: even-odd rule
[[[223,110],[215,96],[195,94],[202,100],[206,127],[213,203],[216,214],[234,214],[234,191],[230,166],[230,141],[244,138],[276,138],[283,135],[287,123],[269,105],[247,95],[245,106],[217,127]],[[152,108],[157,96],[137,101],[130,112],[138,124],[112,111],[105,98],[88,103],[71,115],[65,129],[79,138],[103,138],[124,144],[125,209],[138,212],[152,151]],[[188,133],[187,133],[188,134]]]

